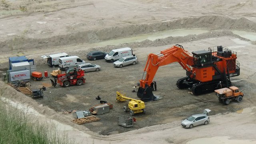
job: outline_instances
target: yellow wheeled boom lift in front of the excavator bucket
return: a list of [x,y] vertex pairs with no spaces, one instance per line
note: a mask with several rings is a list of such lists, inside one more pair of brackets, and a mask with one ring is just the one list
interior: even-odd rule
[[116,101],[126,101],[130,100],[128,103],[128,107],[124,106],[124,112],[127,112],[128,108],[130,109],[130,114],[133,116],[136,113],[139,112],[145,112],[145,103],[143,101],[132,99],[129,97],[126,97],[124,93],[116,92]]

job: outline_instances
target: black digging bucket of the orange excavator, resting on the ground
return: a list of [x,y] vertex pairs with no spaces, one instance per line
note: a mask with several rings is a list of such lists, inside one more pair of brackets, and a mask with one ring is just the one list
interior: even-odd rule
[[139,87],[137,92],[138,98],[140,98],[142,101],[155,101],[158,100],[157,97],[153,95],[152,88],[148,87],[148,85],[143,87]]

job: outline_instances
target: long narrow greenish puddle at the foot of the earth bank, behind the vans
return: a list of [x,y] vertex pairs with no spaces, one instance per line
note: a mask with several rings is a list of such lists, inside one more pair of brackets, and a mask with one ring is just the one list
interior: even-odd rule
[[154,41],[156,39],[163,39],[166,37],[177,37],[177,36],[187,36],[190,34],[203,34],[209,32],[205,29],[176,29],[176,30],[167,30],[161,32],[155,32],[150,34],[142,34],[134,37],[126,37],[122,39],[112,39],[108,41],[102,41],[99,43],[94,43],[97,46],[105,46],[105,45],[119,45],[121,43],[131,43],[131,42],[140,42],[146,39]]

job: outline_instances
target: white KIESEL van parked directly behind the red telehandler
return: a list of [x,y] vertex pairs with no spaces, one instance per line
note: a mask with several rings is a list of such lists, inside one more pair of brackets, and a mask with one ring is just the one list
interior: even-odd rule
[[84,60],[80,59],[78,56],[70,56],[70,57],[60,57],[59,58],[59,67],[60,69],[69,69],[74,68],[79,64],[85,63]]

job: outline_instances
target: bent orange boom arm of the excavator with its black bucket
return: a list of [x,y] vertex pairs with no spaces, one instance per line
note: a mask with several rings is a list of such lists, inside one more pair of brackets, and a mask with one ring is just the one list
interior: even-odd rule
[[193,77],[190,66],[194,65],[193,57],[190,53],[182,47],[182,45],[174,45],[168,49],[161,51],[158,54],[150,53],[147,58],[147,62],[144,68],[142,79],[140,80],[140,87],[138,89],[137,96],[143,101],[154,101],[152,83],[158,67],[168,65],[170,63],[178,62],[183,69],[187,71],[189,77]]

